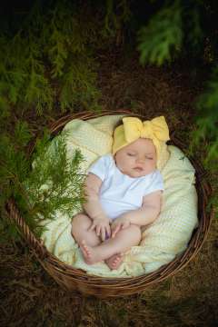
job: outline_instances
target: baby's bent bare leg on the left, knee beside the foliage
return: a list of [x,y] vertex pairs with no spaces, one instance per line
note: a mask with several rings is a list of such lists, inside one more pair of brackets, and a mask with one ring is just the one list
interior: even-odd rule
[[71,233],[76,243],[81,245],[83,240],[90,246],[96,246],[101,243],[95,231],[89,231],[92,223],[93,221],[84,213],[78,213],[74,216]]

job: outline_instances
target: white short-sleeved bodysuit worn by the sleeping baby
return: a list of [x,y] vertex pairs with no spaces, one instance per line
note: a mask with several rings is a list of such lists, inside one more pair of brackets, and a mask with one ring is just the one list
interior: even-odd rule
[[143,197],[163,191],[163,177],[158,170],[142,177],[130,177],[116,167],[112,154],[105,154],[88,169],[102,181],[100,203],[111,219],[142,207]]

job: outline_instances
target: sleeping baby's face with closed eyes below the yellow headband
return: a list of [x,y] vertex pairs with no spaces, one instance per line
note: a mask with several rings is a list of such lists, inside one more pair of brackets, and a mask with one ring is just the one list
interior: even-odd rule
[[114,155],[118,169],[130,177],[141,177],[156,168],[156,150],[150,139],[139,138]]

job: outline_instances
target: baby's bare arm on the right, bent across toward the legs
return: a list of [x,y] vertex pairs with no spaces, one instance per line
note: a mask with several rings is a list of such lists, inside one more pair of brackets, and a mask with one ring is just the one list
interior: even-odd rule
[[131,210],[115,219],[112,224],[112,236],[121,228],[128,227],[130,223],[144,226],[153,223],[161,212],[162,191],[155,191],[144,196],[143,205],[138,210]]

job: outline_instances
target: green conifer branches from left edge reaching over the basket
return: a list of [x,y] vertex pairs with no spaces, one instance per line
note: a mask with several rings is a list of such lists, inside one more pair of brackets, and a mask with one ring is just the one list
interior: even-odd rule
[[83,157],[75,151],[71,159],[67,158],[66,134],[51,143],[45,133],[37,140],[31,159],[25,150],[30,137],[28,125],[18,121],[14,134],[0,138],[0,232],[4,238],[18,237],[15,225],[5,220],[5,203],[10,197],[15,198],[25,222],[38,237],[44,230],[42,221],[54,219],[57,210],[72,216],[84,201]]

